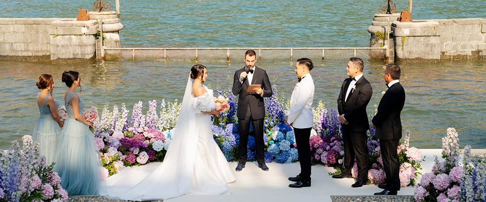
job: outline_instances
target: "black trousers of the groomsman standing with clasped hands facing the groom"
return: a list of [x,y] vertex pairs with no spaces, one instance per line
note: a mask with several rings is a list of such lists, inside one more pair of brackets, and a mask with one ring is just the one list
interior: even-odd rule
[[354,158],[358,167],[358,180],[368,180],[370,159],[368,157],[368,145],[366,131],[353,132],[343,125],[344,146],[344,172],[351,174],[354,166]]

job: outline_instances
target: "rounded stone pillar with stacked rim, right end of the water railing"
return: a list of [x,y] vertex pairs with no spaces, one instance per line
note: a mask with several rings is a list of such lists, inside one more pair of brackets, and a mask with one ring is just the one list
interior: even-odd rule
[[[389,45],[389,53],[388,55],[390,56],[390,60],[393,60],[394,57],[394,44],[393,40],[388,40],[388,43],[386,40],[386,33],[391,30],[391,23],[393,21],[398,20],[400,17],[399,13],[392,13],[392,14],[375,14],[375,17],[373,18],[373,22],[371,22],[371,26],[368,27],[368,32],[371,33],[371,38],[370,38],[370,47],[383,47],[386,44]],[[392,39],[392,33],[390,34],[390,39]],[[374,60],[383,60],[384,59],[384,53],[383,51],[380,50],[370,50],[370,57]]]

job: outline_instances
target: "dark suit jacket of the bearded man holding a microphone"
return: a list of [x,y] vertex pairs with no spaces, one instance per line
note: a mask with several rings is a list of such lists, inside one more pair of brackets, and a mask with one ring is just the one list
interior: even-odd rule
[[239,75],[241,72],[245,71],[245,67],[234,72],[232,91],[234,95],[238,95],[238,111],[236,116],[239,119],[246,118],[248,105],[250,105],[253,120],[265,118],[265,103],[263,102],[263,97],[270,97],[273,94],[267,72],[256,66],[253,69],[253,79],[251,84],[260,84],[263,89],[263,96],[247,92],[248,86],[250,85],[248,77],[243,80],[243,83],[239,80]]

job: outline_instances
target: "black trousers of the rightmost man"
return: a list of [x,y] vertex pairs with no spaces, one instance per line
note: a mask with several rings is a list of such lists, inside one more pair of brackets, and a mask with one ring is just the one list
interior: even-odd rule
[[381,158],[386,175],[386,190],[396,191],[400,188],[400,161],[396,148],[400,140],[380,139]]

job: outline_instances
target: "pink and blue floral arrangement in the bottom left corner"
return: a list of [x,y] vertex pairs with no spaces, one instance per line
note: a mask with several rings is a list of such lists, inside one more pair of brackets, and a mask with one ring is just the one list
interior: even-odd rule
[[67,201],[54,164],[47,165],[38,149],[30,135],[22,137],[22,148],[14,141],[10,150],[0,149],[0,201]]

